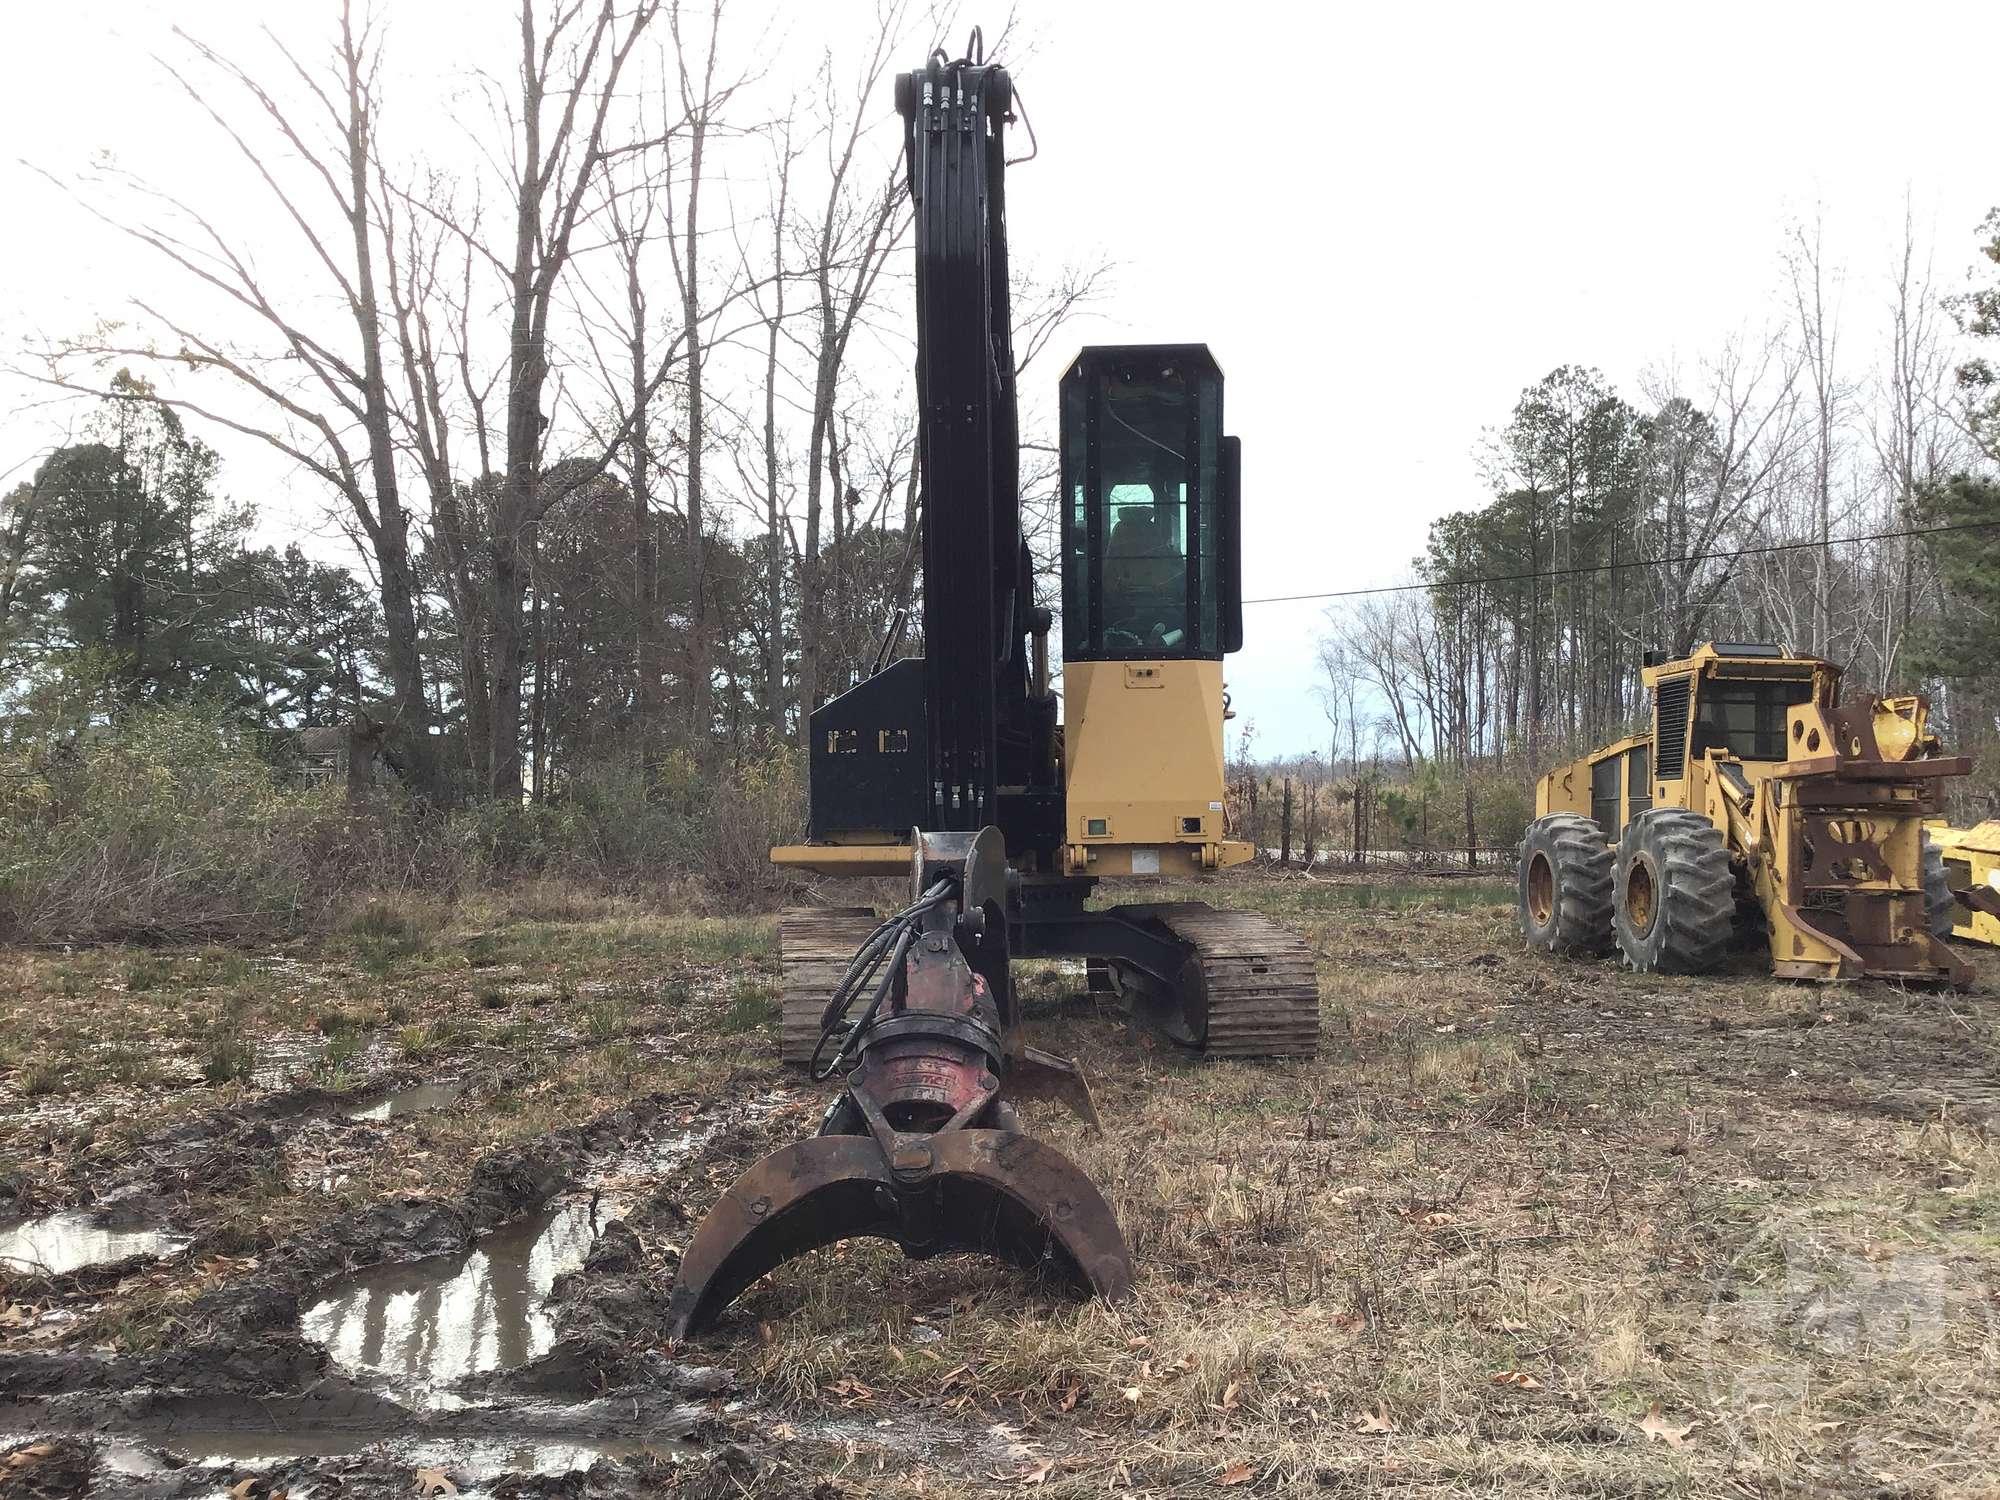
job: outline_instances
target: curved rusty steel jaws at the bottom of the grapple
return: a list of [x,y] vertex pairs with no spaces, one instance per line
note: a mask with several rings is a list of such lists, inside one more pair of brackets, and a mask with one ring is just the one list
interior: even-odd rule
[[764,1272],[838,1240],[894,1240],[914,1260],[982,1252],[1118,1302],[1132,1258],[1110,1204],[1052,1146],[1010,1130],[922,1136],[924,1172],[894,1172],[870,1136],[772,1152],[708,1212],[680,1258],[668,1336],[714,1324]]

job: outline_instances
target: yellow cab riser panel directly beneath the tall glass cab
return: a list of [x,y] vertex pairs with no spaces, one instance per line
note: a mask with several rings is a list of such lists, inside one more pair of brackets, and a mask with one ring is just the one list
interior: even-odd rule
[[1194,874],[1256,850],[1222,836],[1222,662],[1062,672],[1068,874]]

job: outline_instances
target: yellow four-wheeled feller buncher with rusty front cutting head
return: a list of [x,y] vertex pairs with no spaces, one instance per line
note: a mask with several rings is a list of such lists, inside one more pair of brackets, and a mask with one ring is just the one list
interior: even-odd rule
[[1780,978],[1970,980],[1942,942],[1952,892],[1924,820],[1972,762],[1942,754],[1922,698],[1844,698],[1832,662],[1750,642],[1648,654],[1640,680],[1652,732],[1536,784],[1532,946],[1698,974],[1742,912]]

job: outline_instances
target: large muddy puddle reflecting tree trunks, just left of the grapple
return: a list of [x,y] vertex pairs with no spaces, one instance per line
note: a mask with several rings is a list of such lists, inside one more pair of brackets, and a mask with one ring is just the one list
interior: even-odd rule
[[364,1272],[308,1308],[300,1332],[348,1370],[450,1406],[454,1382],[554,1348],[548,1292],[562,1272],[584,1264],[620,1212],[622,1204],[596,1194],[562,1198],[488,1234],[468,1254]]

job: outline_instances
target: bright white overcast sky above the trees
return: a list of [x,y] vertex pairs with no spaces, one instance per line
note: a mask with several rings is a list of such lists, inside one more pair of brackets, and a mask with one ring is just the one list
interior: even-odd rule
[[[446,128],[464,100],[458,42],[500,26],[504,8],[390,6],[402,66],[436,100],[426,128]],[[312,36],[328,10],[10,8],[8,352],[118,314],[160,280],[12,158],[64,172],[112,148],[198,190],[216,142],[148,62],[166,24],[230,48],[266,16]],[[868,0],[736,0],[746,42],[766,10],[802,56],[820,28],[872,14]],[[1020,18],[1032,52],[1012,70],[1040,158],[1010,178],[1012,244],[1044,266],[1116,262],[1074,342],[1216,352],[1244,440],[1250,598],[1396,582],[1432,518],[1484,498],[1480,432],[1550,368],[1598,366],[1636,396],[1648,368],[1696,366],[1774,320],[1792,220],[1824,214],[1844,268],[1844,352],[1864,378],[1906,198],[1944,284],[1964,280],[1974,230],[2000,202],[1994,4],[1020,0]],[[412,92],[398,96],[406,110]],[[878,114],[892,136],[886,94]],[[1058,360],[1032,376],[1052,386]],[[26,410],[20,386],[0,394],[0,470],[32,464],[48,412]],[[320,524],[310,484],[210,436],[228,488],[266,506],[268,532]],[[1248,612],[1228,676],[1260,752],[1324,740],[1322,608]]]

